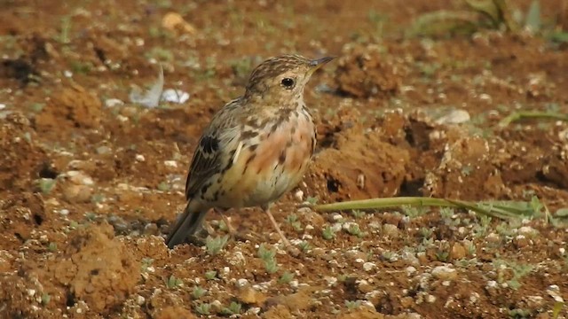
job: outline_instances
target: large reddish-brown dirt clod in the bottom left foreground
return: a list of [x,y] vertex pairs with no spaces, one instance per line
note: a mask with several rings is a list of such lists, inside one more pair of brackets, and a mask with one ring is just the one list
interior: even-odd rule
[[69,234],[68,243],[49,261],[42,282],[62,284],[67,306],[83,300],[97,312],[108,312],[120,305],[138,283],[140,265],[114,237],[112,226],[87,225]]

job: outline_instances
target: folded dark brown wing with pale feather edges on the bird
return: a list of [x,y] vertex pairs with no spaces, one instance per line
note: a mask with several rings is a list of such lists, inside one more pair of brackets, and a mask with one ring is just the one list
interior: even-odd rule
[[235,121],[238,115],[238,99],[229,102],[217,113],[209,127],[205,128],[199,144],[193,153],[189,174],[185,182],[185,198],[190,199],[209,183],[209,179],[220,172],[231,159],[230,152],[238,148],[240,124]]

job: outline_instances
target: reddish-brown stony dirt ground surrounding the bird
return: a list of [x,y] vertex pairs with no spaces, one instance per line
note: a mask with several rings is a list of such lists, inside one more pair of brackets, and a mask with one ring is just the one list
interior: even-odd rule
[[[568,27],[566,3],[540,1],[542,24]],[[0,317],[568,317],[568,124],[497,125],[568,113],[565,43],[502,27],[406,33],[426,12],[467,10],[452,0],[0,7]],[[230,214],[246,237],[217,254],[170,251],[201,129],[252,67],[286,52],[339,56],[305,92],[316,158],[274,210],[301,253],[281,250],[258,209]],[[185,103],[130,102],[157,62]],[[537,196],[551,216],[298,207],[392,196]]]

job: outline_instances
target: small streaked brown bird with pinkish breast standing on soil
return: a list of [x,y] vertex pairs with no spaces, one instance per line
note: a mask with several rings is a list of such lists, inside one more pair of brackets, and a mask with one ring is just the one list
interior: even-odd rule
[[200,230],[209,209],[225,219],[225,210],[250,206],[261,206],[289,245],[270,206],[296,187],[312,159],[316,132],[304,88],[332,59],[283,55],[256,66],[244,95],[221,108],[203,131],[185,183],[187,206],[170,230],[168,247]]

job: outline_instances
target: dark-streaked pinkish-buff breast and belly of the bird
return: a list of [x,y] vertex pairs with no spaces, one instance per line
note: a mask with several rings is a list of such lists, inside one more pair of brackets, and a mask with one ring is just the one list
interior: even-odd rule
[[314,128],[310,114],[298,111],[242,135],[241,152],[225,181],[232,188],[227,195],[239,204],[234,206],[261,206],[296,187],[312,159]]

